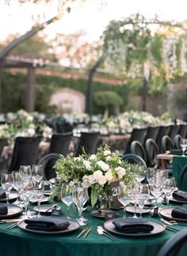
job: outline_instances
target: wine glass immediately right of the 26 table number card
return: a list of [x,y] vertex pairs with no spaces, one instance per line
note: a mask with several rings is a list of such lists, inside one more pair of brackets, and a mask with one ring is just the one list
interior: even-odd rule
[[131,191],[128,184],[124,184],[124,182],[120,182],[118,192],[117,192],[117,199],[119,200],[120,204],[124,207],[124,218],[126,218],[126,207],[131,201]]

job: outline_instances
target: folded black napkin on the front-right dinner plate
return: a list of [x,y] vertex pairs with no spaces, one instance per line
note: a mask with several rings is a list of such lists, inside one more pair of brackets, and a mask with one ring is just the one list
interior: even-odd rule
[[148,233],[154,229],[154,227],[145,219],[114,219],[113,224],[116,229],[123,231],[124,233]]

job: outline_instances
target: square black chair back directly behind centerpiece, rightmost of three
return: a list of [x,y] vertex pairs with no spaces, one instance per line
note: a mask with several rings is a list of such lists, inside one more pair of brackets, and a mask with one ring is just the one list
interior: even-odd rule
[[83,153],[83,149],[88,154],[96,153],[100,138],[101,138],[101,134],[99,132],[96,132],[96,133],[82,132],[78,142],[78,148],[75,150],[75,156],[78,157],[79,155],[81,155]]

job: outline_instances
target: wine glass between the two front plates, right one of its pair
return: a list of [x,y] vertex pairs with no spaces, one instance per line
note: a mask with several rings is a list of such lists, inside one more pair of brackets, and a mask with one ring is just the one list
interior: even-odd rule
[[82,217],[82,211],[83,206],[86,203],[86,190],[87,188],[83,185],[74,185],[73,192],[72,192],[72,198],[74,201],[74,204],[76,205],[78,209],[78,218],[77,221],[80,224],[80,226],[85,226],[87,223],[85,222],[85,219]]

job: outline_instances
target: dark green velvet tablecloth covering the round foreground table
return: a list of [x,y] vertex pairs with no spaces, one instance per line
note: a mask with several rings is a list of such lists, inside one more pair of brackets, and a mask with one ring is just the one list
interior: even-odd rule
[[[66,216],[67,209],[62,202],[55,202],[61,207],[63,216]],[[54,204],[54,201],[43,204]],[[176,204],[175,204],[176,205]],[[36,206],[30,204],[31,208]],[[161,208],[170,207],[160,203]],[[97,226],[104,227],[105,218],[93,215],[96,209],[88,206],[83,211],[83,216],[88,219],[87,227],[92,227],[89,235],[83,238],[83,235],[77,238],[78,234],[85,227],[60,234],[60,235],[44,235],[35,234],[28,230],[14,227],[7,229],[10,223],[2,223],[0,225],[0,252],[3,256],[156,256],[158,250],[174,235],[174,231],[164,229],[156,235],[115,235],[117,241],[113,241],[105,235],[97,233]],[[123,210],[116,211],[118,215],[123,215]],[[132,216],[132,213],[127,213]],[[78,211],[74,204],[70,208],[71,219],[78,217]],[[143,219],[149,219],[165,225],[160,219],[160,216],[152,217],[151,211],[143,214]],[[13,217],[12,217],[13,218]],[[12,219],[11,218],[11,219]],[[17,218],[17,216],[15,216]],[[60,217],[59,217],[60,218]],[[185,224],[185,223],[184,223]],[[187,223],[186,223],[187,225]],[[165,227],[165,226],[164,226]],[[184,227],[183,225],[174,225],[178,230]],[[187,245],[181,250],[177,256],[185,256],[187,253]]]

